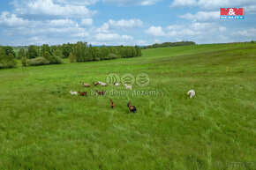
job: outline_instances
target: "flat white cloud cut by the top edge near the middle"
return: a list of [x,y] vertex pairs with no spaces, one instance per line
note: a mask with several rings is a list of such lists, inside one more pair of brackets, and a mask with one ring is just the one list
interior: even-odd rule
[[104,3],[108,4],[117,4],[117,5],[152,5],[156,4],[157,2],[161,0],[102,0]]

